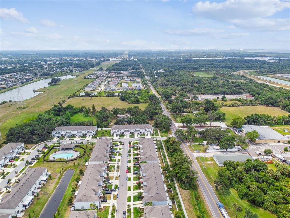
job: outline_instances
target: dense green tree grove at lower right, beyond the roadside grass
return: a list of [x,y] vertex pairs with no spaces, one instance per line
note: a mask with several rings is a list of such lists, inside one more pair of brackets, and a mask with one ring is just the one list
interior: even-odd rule
[[[257,159],[244,163],[225,161],[214,181],[215,187],[234,188],[241,199],[276,213],[279,218],[289,217],[290,168],[280,163],[276,163],[275,168],[268,169]],[[246,211],[245,217],[257,216]]]

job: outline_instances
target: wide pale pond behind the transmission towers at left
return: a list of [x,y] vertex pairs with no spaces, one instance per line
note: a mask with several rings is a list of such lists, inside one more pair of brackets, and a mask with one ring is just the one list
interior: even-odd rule
[[[75,78],[75,76],[67,75],[67,76],[61,76],[58,78],[63,80],[63,79]],[[33,90],[43,88],[43,87],[48,87],[49,86],[48,83],[50,81],[51,81],[51,78],[48,78],[48,79],[39,80],[37,82],[21,86],[19,88],[21,95],[22,95],[22,99],[20,99],[20,101],[24,101],[26,99],[29,99],[29,98],[32,98],[32,97],[35,97],[35,96],[41,94],[42,92],[33,92]],[[12,97],[12,95],[13,95],[13,97]],[[11,100],[13,100],[13,98],[14,98],[14,101],[19,101],[17,88],[0,93],[0,102],[9,101],[10,96],[11,96]]]

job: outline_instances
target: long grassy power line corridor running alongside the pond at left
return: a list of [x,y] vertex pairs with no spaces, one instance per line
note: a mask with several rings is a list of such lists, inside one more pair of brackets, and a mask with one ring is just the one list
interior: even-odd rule
[[[2,104],[0,106],[0,120],[1,120],[1,134],[2,138],[5,139],[5,134],[8,132],[10,127],[14,127],[16,124],[22,124],[30,121],[37,117],[38,114],[47,111],[52,107],[50,104],[53,101],[57,104],[62,99],[67,100],[67,97],[77,91],[75,83],[77,82],[78,87],[81,88],[91,80],[84,79],[84,76],[94,72],[94,69],[85,71],[82,75],[75,79],[65,79],[60,81],[55,86],[49,86],[42,88],[44,91],[31,99],[27,99],[25,102],[25,109],[16,109],[16,104],[11,105],[10,103]],[[51,100],[52,99],[52,100]],[[81,105],[78,105],[81,106]],[[3,141],[3,140],[2,140]],[[1,141],[1,142],[2,142]]]

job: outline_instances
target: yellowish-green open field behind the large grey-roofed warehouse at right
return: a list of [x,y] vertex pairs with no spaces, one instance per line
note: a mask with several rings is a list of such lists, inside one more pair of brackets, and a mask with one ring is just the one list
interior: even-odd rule
[[221,107],[221,111],[226,113],[227,124],[230,124],[230,121],[234,117],[247,117],[251,114],[269,114],[271,116],[282,116],[288,115],[286,111],[282,111],[279,107],[268,107],[268,106],[241,106],[241,107]]

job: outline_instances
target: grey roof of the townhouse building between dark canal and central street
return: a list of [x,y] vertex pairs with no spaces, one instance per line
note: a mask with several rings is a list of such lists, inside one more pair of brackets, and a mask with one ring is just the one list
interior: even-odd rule
[[99,193],[101,190],[101,183],[103,181],[103,176],[105,172],[106,164],[89,164],[85,170],[84,177],[82,178],[81,186],[79,187],[78,193],[76,195],[75,202],[92,202],[99,201]]

